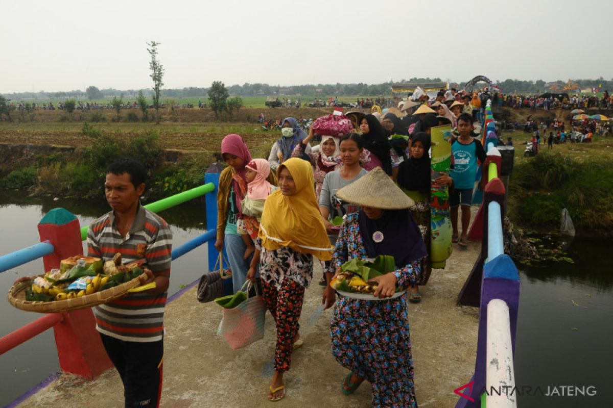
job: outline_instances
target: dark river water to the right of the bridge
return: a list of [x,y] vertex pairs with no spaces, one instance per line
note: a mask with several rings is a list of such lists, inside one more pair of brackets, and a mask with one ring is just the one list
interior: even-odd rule
[[[532,391],[524,388],[518,407],[613,406],[611,247],[611,240],[576,239],[568,248],[574,264],[520,268],[515,378]],[[558,396],[568,394],[562,386],[585,396]]]

